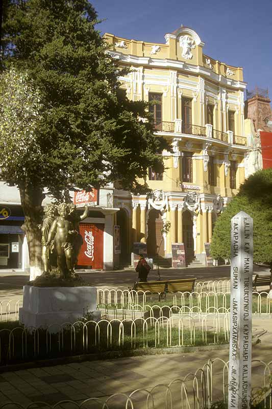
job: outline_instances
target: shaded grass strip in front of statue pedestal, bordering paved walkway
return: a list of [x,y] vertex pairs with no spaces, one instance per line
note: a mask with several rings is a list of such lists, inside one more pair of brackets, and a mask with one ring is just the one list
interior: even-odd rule
[[[77,325],[75,332],[64,329],[62,334],[46,334],[46,331],[39,329],[34,332],[23,332],[23,327],[19,322],[0,323],[0,366],[8,363],[30,361],[35,359],[49,359],[60,356],[71,356],[85,353],[98,353],[117,350],[133,350],[143,348],[165,348],[170,346],[186,345],[207,345],[226,343],[224,333],[214,336],[213,332],[203,333],[202,330],[190,331],[184,329],[179,331],[177,327],[169,328],[164,326],[149,326],[143,331],[140,322],[135,323],[135,332],[131,336],[132,324],[123,324],[123,336],[121,332],[119,343],[119,323],[111,324],[111,331],[107,328],[108,323],[100,324],[100,342],[98,342],[98,332],[96,332],[95,345],[95,325],[88,324],[83,331],[82,325]],[[13,330],[13,331],[12,331]],[[11,332],[13,336],[11,336]],[[168,339],[168,342],[167,342]],[[14,344],[13,344],[14,343]],[[14,345],[14,347],[13,347]]]

